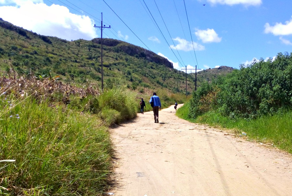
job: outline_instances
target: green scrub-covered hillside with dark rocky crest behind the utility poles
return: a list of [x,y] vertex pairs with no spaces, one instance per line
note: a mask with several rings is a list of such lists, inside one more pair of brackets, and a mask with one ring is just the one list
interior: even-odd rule
[[[105,85],[119,83],[133,90],[163,87],[185,93],[185,77],[167,59],[116,39],[104,39],[103,43]],[[100,38],[67,41],[39,35],[0,18],[0,69],[7,75],[60,75],[67,83],[82,85],[88,81],[100,86],[100,55]],[[218,73],[212,74],[216,78]],[[209,75],[199,75],[198,85]],[[188,74],[188,93],[194,89],[194,81],[194,75]]]

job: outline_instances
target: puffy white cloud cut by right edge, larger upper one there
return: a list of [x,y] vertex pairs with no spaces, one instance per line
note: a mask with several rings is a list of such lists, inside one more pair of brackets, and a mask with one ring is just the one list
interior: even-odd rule
[[266,23],[265,33],[272,33],[274,35],[292,35],[292,18],[290,21],[286,21],[285,24],[276,23],[274,26],[271,26],[269,23]]

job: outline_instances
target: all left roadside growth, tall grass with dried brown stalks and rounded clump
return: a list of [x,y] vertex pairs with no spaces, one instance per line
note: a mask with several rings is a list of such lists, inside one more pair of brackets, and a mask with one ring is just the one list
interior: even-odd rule
[[[118,86],[101,94],[68,85],[52,92],[47,85],[57,81],[34,88],[35,78],[2,79],[0,195],[104,193],[112,175],[108,126],[135,117],[134,94]],[[33,94],[18,91],[28,85]]]

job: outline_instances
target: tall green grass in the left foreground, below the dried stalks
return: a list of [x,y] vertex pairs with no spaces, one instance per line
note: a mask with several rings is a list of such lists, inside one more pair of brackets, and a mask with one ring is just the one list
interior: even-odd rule
[[111,173],[107,128],[94,115],[33,98],[1,97],[0,164],[4,195],[98,195]]

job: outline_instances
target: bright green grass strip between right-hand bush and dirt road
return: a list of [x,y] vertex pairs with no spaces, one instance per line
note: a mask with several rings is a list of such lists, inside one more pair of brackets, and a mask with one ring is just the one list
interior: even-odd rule
[[208,124],[216,128],[233,130],[238,135],[247,134],[249,140],[271,143],[279,149],[292,153],[292,111],[267,115],[247,121],[243,118],[230,119],[215,111],[198,116],[196,119],[188,118],[189,104],[185,104],[177,111],[177,116],[185,120]]

